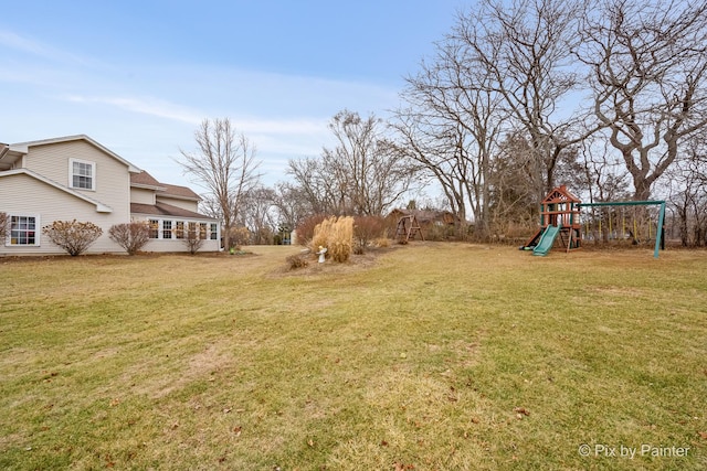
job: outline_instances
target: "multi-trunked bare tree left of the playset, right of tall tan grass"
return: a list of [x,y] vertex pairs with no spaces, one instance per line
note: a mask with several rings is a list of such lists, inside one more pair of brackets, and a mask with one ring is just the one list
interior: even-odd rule
[[401,96],[409,107],[393,124],[398,152],[436,180],[464,224],[471,208],[481,236],[489,231],[489,169],[505,118],[489,78],[466,44],[449,38],[434,61],[407,79]]

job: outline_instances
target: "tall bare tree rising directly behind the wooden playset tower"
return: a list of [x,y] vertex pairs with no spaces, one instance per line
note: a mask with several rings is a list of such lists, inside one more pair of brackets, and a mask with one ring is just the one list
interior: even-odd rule
[[447,38],[464,45],[467,67],[488,74],[486,83],[503,97],[514,133],[527,132],[537,201],[555,186],[559,159],[571,156],[566,149],[592,132],[580,126],[580,107],[572,109],[569,99],[578,86],[570,60],[583,6],[578,0],[482,0],[460,15]]

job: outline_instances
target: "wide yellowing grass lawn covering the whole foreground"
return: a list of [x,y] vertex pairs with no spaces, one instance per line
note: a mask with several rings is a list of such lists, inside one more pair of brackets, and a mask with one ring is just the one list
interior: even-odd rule
[[0,469],[707,469],[707,251],[0,259]]

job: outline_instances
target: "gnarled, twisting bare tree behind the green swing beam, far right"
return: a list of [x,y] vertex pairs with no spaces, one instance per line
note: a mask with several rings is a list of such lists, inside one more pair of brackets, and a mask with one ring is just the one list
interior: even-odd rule
[[606,0],[590,12],[578,58],[593,114],[647,200],[680,141],[707,125],[707,3]]

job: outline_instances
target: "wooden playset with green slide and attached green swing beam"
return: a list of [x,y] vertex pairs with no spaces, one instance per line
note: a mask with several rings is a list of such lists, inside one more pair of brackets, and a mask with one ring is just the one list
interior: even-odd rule
[[567,190],[557,186],[540,203],[540,228],[520,248],[532,250],[532,255],[545,256],[559,239],[567,250],[582,247],[581,208],[593,206],[647,206],[659,205],[657,229],[655,231],[654,257],[658,258],[658,249],[664,247],[663,222],[665,220],[665,201],[624,201],[582,203]]

